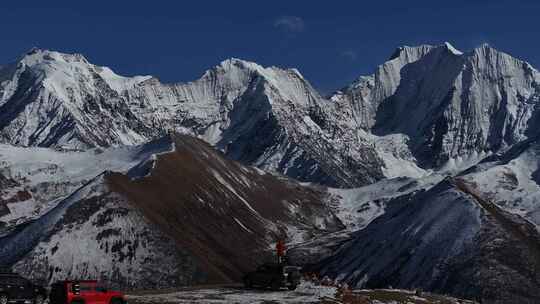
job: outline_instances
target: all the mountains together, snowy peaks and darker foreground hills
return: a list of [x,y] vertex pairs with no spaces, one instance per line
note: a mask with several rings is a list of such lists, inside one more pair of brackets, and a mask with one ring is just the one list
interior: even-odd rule
[[33,49],[0,67],[0,261],[168,287],[238,280],[285,238],[357,287],[534,303],[539,98],[488,45],[400,47],[327,97],[239,59],[163,84]]

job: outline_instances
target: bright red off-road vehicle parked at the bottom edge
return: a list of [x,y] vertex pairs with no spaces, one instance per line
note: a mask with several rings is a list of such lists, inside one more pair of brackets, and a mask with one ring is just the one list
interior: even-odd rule
[[52,285],[51,304],[126,304],[124,295],[98,281],[60,281]]

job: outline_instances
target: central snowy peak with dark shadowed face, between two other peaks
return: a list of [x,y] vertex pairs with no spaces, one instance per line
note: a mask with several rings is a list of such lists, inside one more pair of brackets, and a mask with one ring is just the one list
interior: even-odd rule
[[382,177],[369,142],[336,125],[329,101],[295,69],[230,59],[195,82],[152,79],[126,94],[143,121],[197,135],[265,170],[342,186]]

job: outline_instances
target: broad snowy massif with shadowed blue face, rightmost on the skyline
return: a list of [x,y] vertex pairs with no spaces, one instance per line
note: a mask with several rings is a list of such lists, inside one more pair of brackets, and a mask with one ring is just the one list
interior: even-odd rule
[[488,45],[462,53],[448,43],[401,47],[374,75],[331,97],[359,128],[406,136],[423,167],[537,134],[539,98],[540,74],[530,64]]

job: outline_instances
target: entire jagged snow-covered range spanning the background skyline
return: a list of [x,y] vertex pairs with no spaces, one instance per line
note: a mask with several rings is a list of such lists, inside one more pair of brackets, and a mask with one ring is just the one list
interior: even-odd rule
[[239,59],[194,82],[162,84],[35,49],[0,70],[0,135],[85,149],[175,131],[263,169],[350,187],[477,161],[535,134],[538,75],[487,45],[468,53],[448,43],[401,47],[374,75],[326,99],[295,69]]

